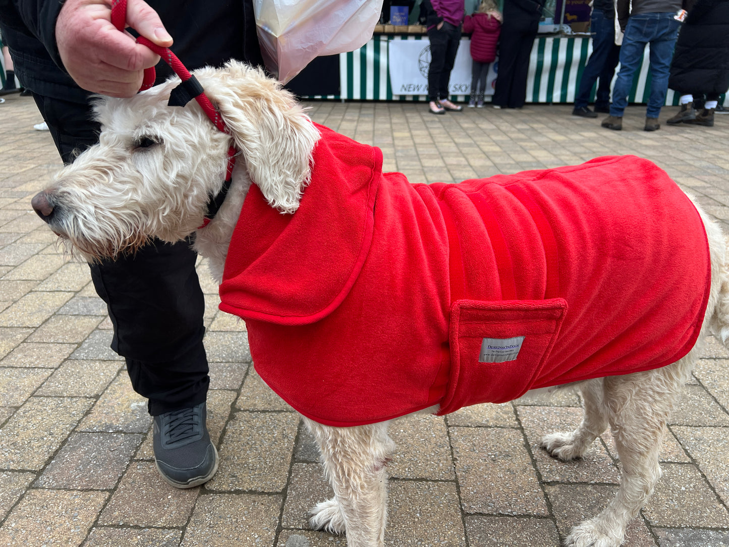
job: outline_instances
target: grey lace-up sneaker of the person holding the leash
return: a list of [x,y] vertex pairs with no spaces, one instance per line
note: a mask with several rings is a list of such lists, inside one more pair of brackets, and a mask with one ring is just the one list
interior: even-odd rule
[[206,426],[206,403],[154,416],[157,470],[176,488],[192,488],[213,478],[218,452]]

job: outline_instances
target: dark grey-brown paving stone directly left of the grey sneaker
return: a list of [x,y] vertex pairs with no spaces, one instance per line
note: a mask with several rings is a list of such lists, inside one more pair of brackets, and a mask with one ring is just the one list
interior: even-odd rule
[[39,488],[112,489],[141,435],[74,433],[36,481]]

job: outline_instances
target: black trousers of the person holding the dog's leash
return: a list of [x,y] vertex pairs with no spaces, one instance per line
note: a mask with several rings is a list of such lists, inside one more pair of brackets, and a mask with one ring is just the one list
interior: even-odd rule
[[[88,105],[34,99],[64,163],[98,142]],[[135,255],[90,265],[114,325],[112,349],[125,357],[132,387],[149,399],[154,416],[206,400],[205,302],[196,258],[190,241],[156,240]]]

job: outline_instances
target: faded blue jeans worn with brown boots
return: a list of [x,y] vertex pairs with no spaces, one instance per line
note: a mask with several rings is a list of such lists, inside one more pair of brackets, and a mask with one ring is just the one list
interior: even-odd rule
[[612,88],[610,115],[622,117],[628,106],[628,95],[633,87],[633,76],[640,66],[645,45],[650,44],[650,96],[646,117],[658,117],[666,102],[668,71],[674,55],[679,23],[674,12],[639,13],[631,15],[625,27],[623,47],[620,48],[620,72]]

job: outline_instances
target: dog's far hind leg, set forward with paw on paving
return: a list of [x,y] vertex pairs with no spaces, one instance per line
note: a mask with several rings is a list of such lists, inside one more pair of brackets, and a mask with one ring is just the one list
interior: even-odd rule
[[555,458],[563,461],[580,458],[590,444],[607,429],[607,409],[604,408],[603,379],[585,381],[580,385],[582,422],[572,432],[556,432],[542,438],[542,446]]

